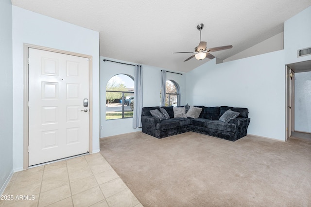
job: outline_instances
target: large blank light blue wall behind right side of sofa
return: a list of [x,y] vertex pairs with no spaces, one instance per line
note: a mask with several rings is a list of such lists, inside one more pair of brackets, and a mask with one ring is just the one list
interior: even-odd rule
[[249,109],[248,134],[284,141],[284,51],[216,64],[213,59],[187,73],[190,105]]

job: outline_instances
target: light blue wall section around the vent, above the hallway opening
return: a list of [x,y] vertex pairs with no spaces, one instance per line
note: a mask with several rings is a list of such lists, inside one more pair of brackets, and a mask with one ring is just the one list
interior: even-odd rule
[[286,64],[311,60],[311,55],[297,57],[297,50],[311,47],[311,7],[284,22]]

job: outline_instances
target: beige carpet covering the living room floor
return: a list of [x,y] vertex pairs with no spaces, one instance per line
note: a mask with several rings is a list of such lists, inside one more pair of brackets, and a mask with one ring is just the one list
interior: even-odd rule
[[195,132],[101,139],[101,153],[145,207],[311,206],[311,141]]

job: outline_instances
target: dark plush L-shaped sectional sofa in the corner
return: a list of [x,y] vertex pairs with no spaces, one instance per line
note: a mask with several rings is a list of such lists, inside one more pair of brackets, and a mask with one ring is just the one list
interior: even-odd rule
[[[142,132],[159,139],[188,131],[230,141],[236,141],[246,136],[250,122],[247,108],[228,106],[195,107],[202,108],[198,118],[174,118],[173,107],[162,107],[170,115],[170,119],[165,120],[160,120],[150,113],[150,110],[159,110],[160,107],[143,107],[141,114]],[[231,119],[228,123],[220,121],[219,118],[229,109],[239,112],[239,116]]]

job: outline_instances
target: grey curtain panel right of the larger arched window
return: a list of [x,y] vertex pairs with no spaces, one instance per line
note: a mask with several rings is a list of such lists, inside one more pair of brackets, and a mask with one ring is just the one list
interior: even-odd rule
[[135,65],[133,128],[141,127],[142,65]]

